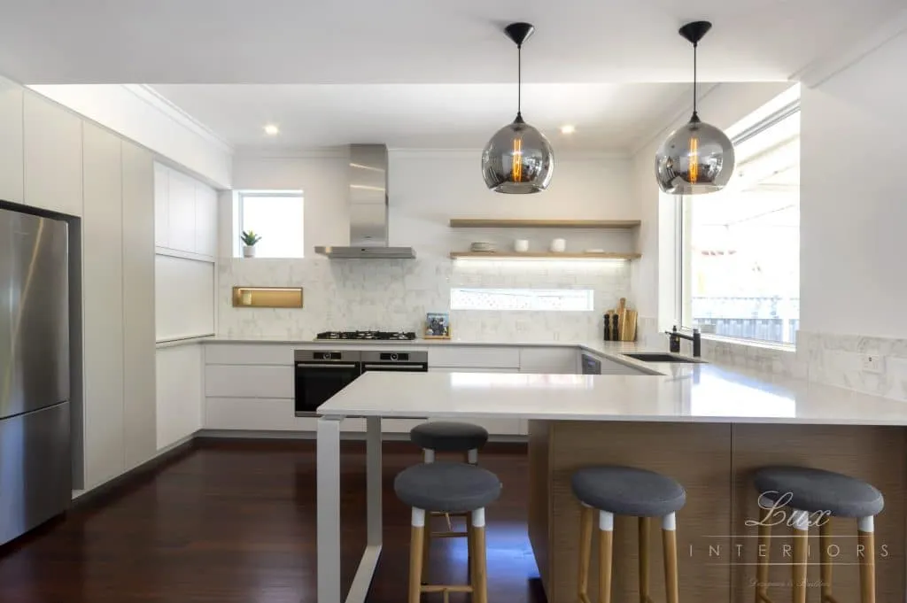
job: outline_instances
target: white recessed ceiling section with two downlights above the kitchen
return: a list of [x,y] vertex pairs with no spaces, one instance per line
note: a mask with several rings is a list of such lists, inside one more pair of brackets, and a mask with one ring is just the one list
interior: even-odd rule
[[[516,114],[514,84],[174,84],[154,90],[240,153],[383,142],[481,149]],[[522,114],[558,151],[628,151],[692,102],[688,83],[528,84]],[[268,136],[266,123],[277,124]],[[576,132],[564,135],[561,125]]]

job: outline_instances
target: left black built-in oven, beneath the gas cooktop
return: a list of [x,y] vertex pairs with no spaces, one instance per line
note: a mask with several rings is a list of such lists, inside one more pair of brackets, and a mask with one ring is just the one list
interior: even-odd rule
[[355,350],[295,350],[296,416],[312,416],[328,398],[362,374],[362,353]]

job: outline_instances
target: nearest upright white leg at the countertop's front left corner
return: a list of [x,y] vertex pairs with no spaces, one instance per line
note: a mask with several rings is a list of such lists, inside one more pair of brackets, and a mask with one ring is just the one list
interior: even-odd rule
[[318,603],[341,603],[340,598],[340,422],[343,417],[318,419],[317,457],[317,593]]

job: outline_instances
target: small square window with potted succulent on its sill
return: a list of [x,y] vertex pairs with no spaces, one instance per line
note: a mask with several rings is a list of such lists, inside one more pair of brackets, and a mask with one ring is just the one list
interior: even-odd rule
[[242,191],[234,203],[236,237],[233,255],[242,255],[239,236],[252,230],[261,237],[257,258],[303,258],[303,199],[301,190]]

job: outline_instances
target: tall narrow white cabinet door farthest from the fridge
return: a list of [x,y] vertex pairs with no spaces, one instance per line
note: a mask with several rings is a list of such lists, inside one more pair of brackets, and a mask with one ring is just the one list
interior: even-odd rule
[[126,469],[157,451],[154,397],[154,168],[122,141],[123,437]]

